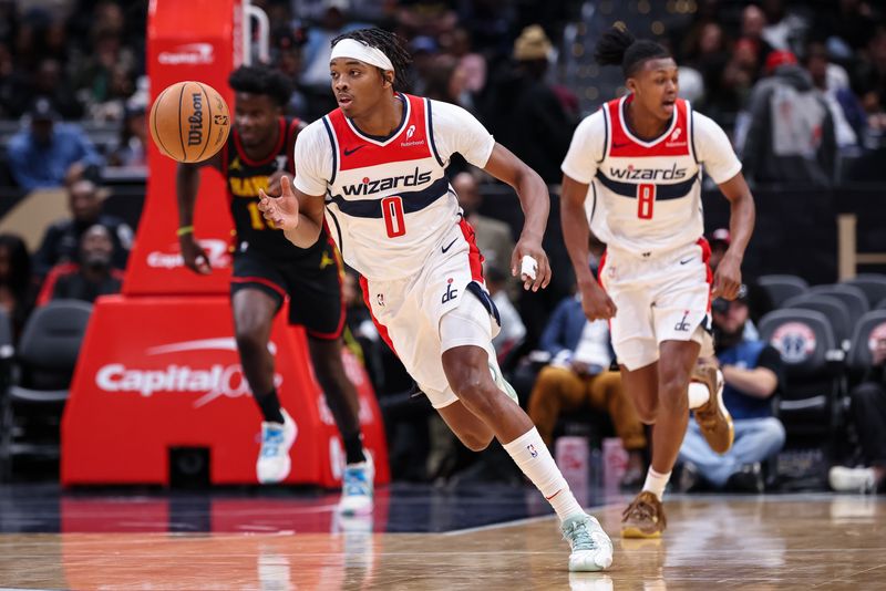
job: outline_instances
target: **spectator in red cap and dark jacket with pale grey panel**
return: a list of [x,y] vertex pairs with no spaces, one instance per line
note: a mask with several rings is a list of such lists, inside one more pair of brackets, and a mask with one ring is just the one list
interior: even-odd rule
[[827,103],[789,51],[766,59],[754,85],[743,143],[744,176],[756,183],[834,182],[836,139]]

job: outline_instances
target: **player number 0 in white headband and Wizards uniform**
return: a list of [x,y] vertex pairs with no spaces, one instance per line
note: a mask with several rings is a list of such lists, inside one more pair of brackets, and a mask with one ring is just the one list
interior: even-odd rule
[[364,29],[332,44],[339,108],[299,135],[295,189],[285,182],[282,197],[262,197],[259,207],[302,248],[317,241],[326,216],[344,260],[363,276],[381,334],[450,428],[474,450],[498,438],[557,512],[569,570],[608,568],[611,541],[502,379],[492,349],[497,311],[444,169],[459,152],[516,189],[526,222],[512,272],[524,271],[533,290],[550,280],[544,182],[463,108],[400,92],[410,58],[396,35]]

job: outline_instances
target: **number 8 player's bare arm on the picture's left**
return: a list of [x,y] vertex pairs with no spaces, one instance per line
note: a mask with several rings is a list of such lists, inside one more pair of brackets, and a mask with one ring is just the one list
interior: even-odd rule
[[575,269],[578,290],[581,293],[581,308],[589,320],[609,319],[616,315],[616,304],[597,283],[590,272],[590,226],[585,210],[585,199],[589,185],[569,175],[563,175],[560,189],[560,225],[563,240]]

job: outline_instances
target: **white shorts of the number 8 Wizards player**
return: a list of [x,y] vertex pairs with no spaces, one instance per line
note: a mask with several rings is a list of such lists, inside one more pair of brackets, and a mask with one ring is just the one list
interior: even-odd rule
[[620,364],[632,371],[655,363],[662,341],[696,341],[702,356],[713,355],[710,255],[703,238],[641,257],[607,249],[599,278],[618,308],[609,329]]

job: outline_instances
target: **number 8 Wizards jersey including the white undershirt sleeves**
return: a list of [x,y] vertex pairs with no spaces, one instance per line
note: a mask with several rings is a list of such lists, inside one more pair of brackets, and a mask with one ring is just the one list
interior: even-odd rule
[[637,256],[694,243],[704,232],[701,170],[718,184],[741,170],[725,133],[681,98],[668,129],[645,142],[626,122],[629,94],[586,117],[563,172],[590,185],[586,209],[594,234]]

